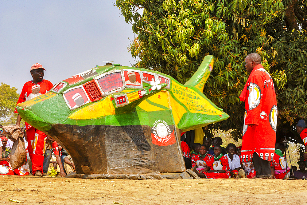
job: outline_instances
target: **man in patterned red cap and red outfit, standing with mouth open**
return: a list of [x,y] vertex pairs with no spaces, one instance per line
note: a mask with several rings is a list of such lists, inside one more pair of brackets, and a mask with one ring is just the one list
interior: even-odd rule
[[[43,66],[39,63],[32,65],[30,73],[33,80],[25,83],[17,104],[45,94],[53,87],[50,81],[43,80],[44,70],[45,69]],[[16,108],[15,113],[18,113]],[[21,116],[18,114],[16,125],[20,126],[20,121]],[[32,161],[32,174],[35,176],[43,176],[43,149],[45,146],[45,137],[47,137],[47,135],[44,132],[41,132],[38,129],[32,127],[27,122],[25,123],[25,128],[27,130],[27,141],[29,145],[32,144],[32,146],[28,146],[29,156]]]

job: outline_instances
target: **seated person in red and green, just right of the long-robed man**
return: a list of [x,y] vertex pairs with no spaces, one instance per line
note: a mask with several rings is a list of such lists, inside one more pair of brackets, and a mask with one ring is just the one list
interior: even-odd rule
[[[275,144],[275,152],[274,152],[274,172],[272,172],[273,178],[275,179],[287,179],[290,175],[290,167],[286,163],[285,155],[285,147],[281,144]],[[288,173],[287,173],[288,172]]]

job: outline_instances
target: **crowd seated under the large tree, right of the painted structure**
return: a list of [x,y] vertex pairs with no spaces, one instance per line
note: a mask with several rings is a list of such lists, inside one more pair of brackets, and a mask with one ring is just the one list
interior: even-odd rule
[[[212,143],[212,147],[210,148]],[[187,155],[188,146],[185,142],[185,161],[190,156],[190,162],[186,168],[190,168],[201,178],[219,179],[219,178],[256,178],[256,170],[253,162],[242,162],[241,146],[237,147],[230,143],[226,148],[221,145],[223,141],[220,137],[215,137],[212,140],[205,138],[203,144],[194,143],[190,155]],[[211,151],[209,153],[209,151]],[[270,162],[271,175],[275,179],[287,179],[290,176],[290,168],[284,156],[285,148],[282,144],[276,143],[274,161]],[[224,154],[225,153],[225,154]],[[293,171],[290,178],[305,178],[307,177],[307,169],[305,161],[299,161],[300,170]],[[293,166],[294,168],[295,166]]]

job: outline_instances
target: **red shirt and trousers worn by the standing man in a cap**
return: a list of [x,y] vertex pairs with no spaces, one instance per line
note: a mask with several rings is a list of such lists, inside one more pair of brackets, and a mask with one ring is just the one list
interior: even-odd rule
[[[52,83],[47,80],[42,80],[41,82],[38,82],[37,85],[32,81],[28,81],[25,83],[25,85],[22,88],[17,104],[30,100],[29,97],[31,98],[31,96],[37,97],[38,93],[41,93],[41,95],[45,94],[52,87],[53,87]],[[39,91],[37,93],[38,89]],[[16,109],[15,113],[18,113]],[[32,127],[27,122],[25,122],[25,128],[27,130],[27,141],[29,145],[32,145],[28,146],[28,148],[29,148],[29,156],[32,161],[33,174],[36,171],[41,171],[41,173],[43,173],[43,160],[44,160],[43,149],[44,149],[45,137],[47,135],[44,132],[41,132],[40,130]]]

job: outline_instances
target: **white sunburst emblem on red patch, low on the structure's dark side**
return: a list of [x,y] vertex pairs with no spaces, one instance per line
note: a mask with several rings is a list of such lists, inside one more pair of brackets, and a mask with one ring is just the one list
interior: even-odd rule
[[152,128],[153,136],[159,142],[167,142],[171,138],[171,130],[164,120],[156,120]]

